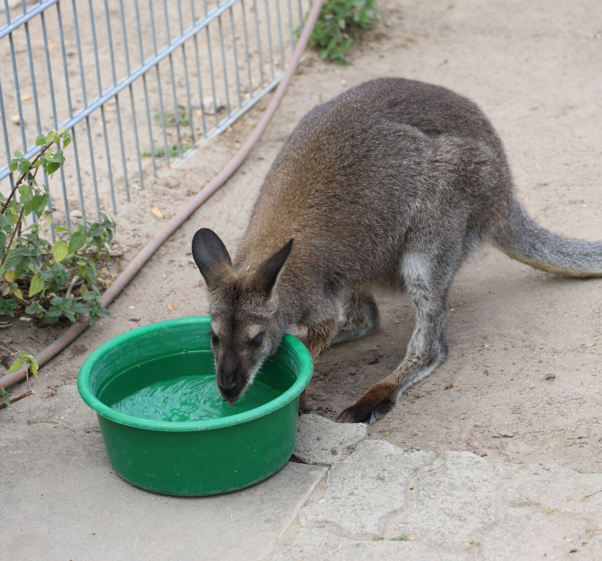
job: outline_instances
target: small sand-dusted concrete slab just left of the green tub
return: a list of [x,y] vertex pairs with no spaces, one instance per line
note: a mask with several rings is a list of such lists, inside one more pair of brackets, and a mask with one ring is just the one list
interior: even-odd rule
[[57,388],[55,395],[47,397],[31,412],[27,422],[48,423],[59,429],[86,432],[100,430],[96,413],[82,401],[75,384]]

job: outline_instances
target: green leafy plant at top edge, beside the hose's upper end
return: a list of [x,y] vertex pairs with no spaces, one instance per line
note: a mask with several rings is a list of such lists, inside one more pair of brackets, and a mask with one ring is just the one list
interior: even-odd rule
[[318,48],[322,60],[330,58],[344,66],[345,53],[353,42],[350,29],[372,29],[380,13],[375,0],[324,0],[309,45]]

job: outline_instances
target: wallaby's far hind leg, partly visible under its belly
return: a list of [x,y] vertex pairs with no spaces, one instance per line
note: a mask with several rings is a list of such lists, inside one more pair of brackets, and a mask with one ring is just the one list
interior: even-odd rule
[[380,325],[378,306],[363,288],[354,290],[340,302],[340,321],[332,344],[358,339]]

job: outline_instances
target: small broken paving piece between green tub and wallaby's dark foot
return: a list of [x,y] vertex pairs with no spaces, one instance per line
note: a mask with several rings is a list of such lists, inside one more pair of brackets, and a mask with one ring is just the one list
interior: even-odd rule
[[335,423],[321,415],[302,415],[297,424],[293,457],[303,463],[331,466],[346,457],[349,448],[367,435],[364,423]]

